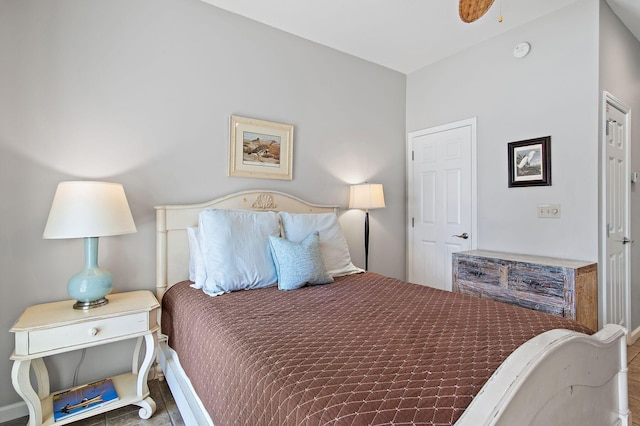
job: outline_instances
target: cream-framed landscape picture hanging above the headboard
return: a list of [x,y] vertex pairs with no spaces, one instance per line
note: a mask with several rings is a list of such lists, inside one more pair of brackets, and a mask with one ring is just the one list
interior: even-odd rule
[[229,176],[292,179],[293,126],[231,116]]

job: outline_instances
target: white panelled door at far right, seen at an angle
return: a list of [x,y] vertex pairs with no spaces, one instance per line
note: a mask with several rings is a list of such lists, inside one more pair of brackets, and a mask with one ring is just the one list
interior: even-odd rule
[[604,94],[604,214],[605,254],[601,262],[602,324],[630,324],[629,254],[629,109],[609,93]]

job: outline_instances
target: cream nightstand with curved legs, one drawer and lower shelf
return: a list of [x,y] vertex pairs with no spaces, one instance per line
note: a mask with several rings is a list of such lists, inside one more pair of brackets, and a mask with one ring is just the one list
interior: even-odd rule
[[[54,424],[53,395],[44,357],[134,338],[137,342],[131,372],[111,377],[119,399],[55,424],[71,423],[130,404],[141,407],[138,414],[143,419],[155,412],[147,376],[158,344],[160,305],[150,291],[115,293],[108,299],[109,304],[86,311],[72,309],[74,300],[31,306],[9,330],[16,338],[11,380],[27,403],[29,426]],[[140,363],[143,342],[144,359]],[[32,368],[37,390],[29,379]]]

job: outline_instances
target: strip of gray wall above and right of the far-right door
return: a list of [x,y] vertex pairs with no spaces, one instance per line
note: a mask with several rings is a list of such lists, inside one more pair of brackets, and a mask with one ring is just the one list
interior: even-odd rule
[[[640,171],[640,42],[600,4],[600,89],[631,108],[631,170]],[[640,325],[640,187],[631,184],[631,325]],[[633,309],[633,308],[636,309]],[[631,330],[633,331],[633,330]]]

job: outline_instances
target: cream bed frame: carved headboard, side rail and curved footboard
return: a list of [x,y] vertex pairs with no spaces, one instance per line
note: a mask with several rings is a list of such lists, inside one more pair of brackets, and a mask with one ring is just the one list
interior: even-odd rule
[[[216,200],[156,207],[157,296],[188,278],[186,228],[206,208],[292,213],[337,212],[274,191],[244,191]],[[161,336],[158,362],[186,425],[213,425],[211,417]],[[631,424],[627,396],[626,330],[607,325],[593,336],[551,330],[511,354],[480,390],[458,426]]]

